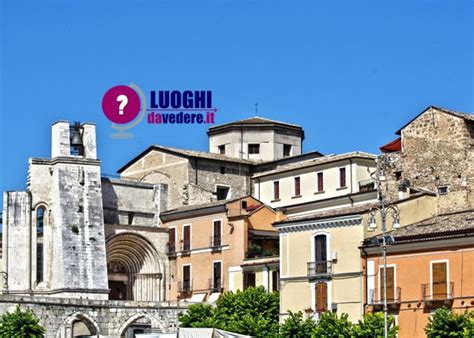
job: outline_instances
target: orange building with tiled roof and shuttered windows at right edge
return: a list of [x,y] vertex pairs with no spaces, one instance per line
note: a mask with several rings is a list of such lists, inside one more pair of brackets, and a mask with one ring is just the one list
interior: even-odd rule
[[[440,215],[389,234],[387,302],[400,337],[425,337],[429,317],[446,306],[474,310],[474,211]],[[365,312],[383,311],[380,236],[361,247]]]

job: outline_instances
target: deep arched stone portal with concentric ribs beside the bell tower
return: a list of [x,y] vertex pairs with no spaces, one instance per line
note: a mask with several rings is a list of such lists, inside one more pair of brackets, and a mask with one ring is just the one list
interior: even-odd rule
[[112,300],[160,301],[164,268],[155,247],[144,237],[121,233],[107,241],[107,274]]

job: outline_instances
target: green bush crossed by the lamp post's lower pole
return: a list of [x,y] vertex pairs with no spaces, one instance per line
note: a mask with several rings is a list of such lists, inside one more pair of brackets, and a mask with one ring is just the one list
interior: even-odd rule
[[[362,320],[353,326],[352,332],[355,337],[383,337],[384,318],[383,312],[367,313]],[[398,326],[395,325],[395,318],[388,316],[388,336],[396,337]]]

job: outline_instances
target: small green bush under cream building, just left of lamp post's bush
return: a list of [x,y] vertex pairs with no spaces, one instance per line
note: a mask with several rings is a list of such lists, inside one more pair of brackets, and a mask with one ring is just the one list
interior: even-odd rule
[[347,313],[342,313],[341,317],[338,317],[336,313],[323,312],[313,331],[313,337],[350,337],[352,323],[348,317]]

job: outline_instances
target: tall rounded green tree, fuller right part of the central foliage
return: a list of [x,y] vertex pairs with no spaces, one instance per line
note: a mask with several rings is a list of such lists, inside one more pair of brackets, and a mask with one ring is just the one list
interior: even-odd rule
[[263,286],[226,292],[216,303],[216,327],[256,337],[278,335],[279,296]]

